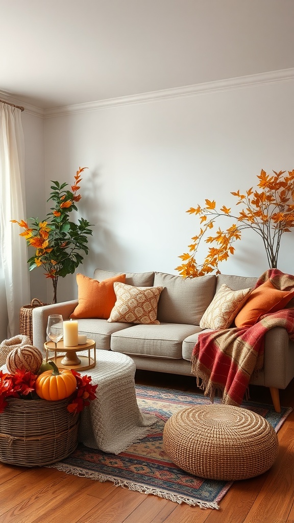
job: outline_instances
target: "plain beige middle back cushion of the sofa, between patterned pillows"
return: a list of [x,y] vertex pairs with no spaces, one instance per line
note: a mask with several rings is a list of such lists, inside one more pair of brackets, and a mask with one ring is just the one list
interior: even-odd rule
[[161,292],[157,320],[163,323],[199,325],[200,319],[213,299],[216,276],[183,278],[165,272],[155,272],[154,286]]

